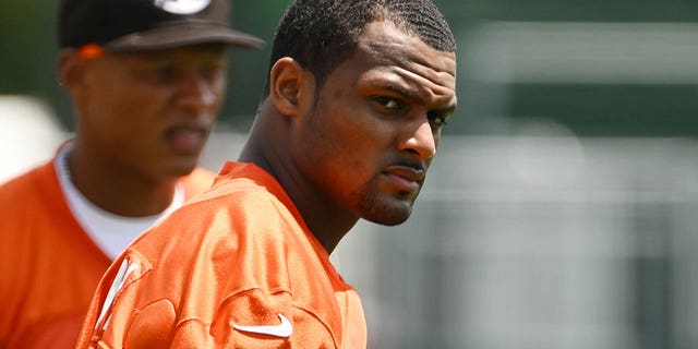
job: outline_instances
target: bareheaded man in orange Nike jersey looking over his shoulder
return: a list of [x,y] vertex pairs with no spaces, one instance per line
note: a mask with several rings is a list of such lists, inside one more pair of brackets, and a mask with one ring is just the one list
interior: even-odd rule
[[239,161],[142,234],[97,289],[79,348],[364,348],[329,253],[398,225],[456,108],[431,0],[297,0]]

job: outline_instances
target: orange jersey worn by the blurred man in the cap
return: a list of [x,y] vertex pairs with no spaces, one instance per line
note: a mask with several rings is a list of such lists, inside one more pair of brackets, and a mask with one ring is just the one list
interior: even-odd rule
[[[186,196],[214,174],[182,179]],[[111,264],[74,218],[53,161],[0,185],[0,348],[74,348]]]

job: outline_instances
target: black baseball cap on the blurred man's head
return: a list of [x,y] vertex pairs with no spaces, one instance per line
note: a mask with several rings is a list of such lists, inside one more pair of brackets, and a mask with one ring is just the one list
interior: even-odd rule
[[224,43],[258,48],[263,41],[232,28],[230,0],[60,0],[59,45],[98,45],[142,51]]

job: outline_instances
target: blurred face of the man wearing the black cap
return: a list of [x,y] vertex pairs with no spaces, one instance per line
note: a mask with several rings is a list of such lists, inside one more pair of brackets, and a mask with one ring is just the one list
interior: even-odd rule
[[77,142],[103,164],[149,177],[189,173],[226,91],[224,45],[107,53],[86,62]]

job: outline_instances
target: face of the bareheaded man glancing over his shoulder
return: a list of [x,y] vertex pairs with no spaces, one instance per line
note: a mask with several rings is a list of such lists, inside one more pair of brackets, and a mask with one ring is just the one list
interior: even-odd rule
[[456,57],[375,22],[318,92],[294,158],[321,197],[383,225],[405,221],[456,108]]

